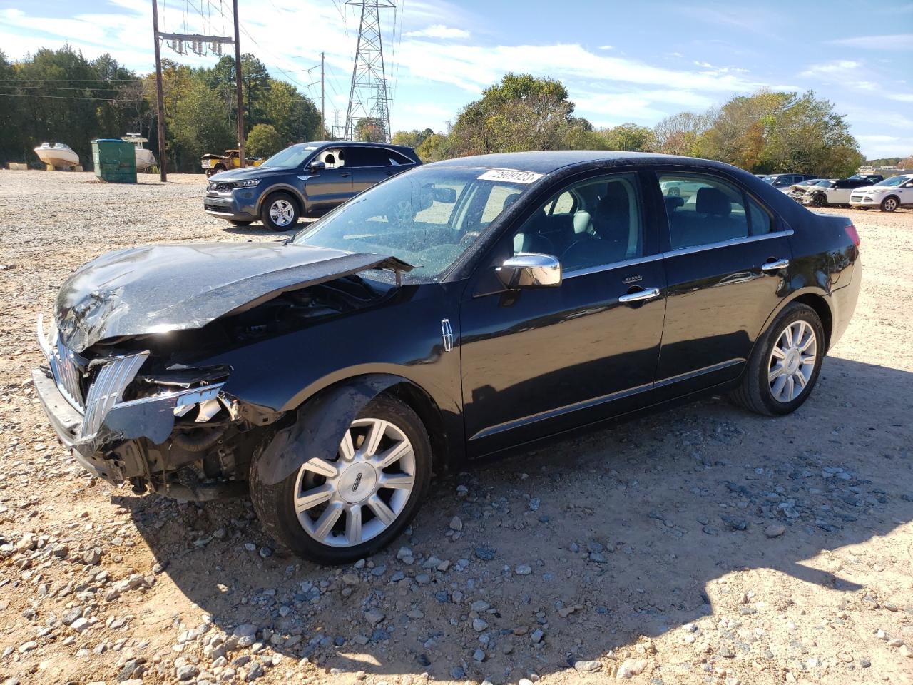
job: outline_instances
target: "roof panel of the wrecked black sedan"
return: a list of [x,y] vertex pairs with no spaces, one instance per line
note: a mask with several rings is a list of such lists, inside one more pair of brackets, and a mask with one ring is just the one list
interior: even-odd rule
[[704,168],[727,168],[729,164],[675,154],[624,153],[612,150],[548,150],[531,153],[479,154],[434,163],[435,166],[467,166],[476,169],[512,169],[533,174],[551,174],[558,169],[593,162],[607,165],[624,163],[694,164]]

